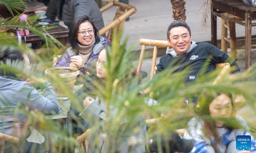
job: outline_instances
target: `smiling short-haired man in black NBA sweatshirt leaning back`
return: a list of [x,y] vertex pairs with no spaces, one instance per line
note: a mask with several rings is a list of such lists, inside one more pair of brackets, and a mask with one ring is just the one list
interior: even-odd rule
[[[229,57],[227,53],[209,43],[196,44],[192,41],[190,28],[183,21],[177,20],[168,26],[166,39],[172,48],[167,50],[166,55],[160,58],[159,64],[156,65],[156,74],[167,69],[167,67],[177,66],[174,72],[187,69],[186,80],[184,81],[190,82],[201,77],[199,72],[204,66],[205,71],[201,74],[212,72],[216,68],[216,63],[224,62],[228,62],[234,68],[232,73],[240,73],[236,61]],[[196,102],[196,100],[193,99],[193,102]],[[243,107],[246,104],[242,95],[236,95],[234,102],[237,107]]]

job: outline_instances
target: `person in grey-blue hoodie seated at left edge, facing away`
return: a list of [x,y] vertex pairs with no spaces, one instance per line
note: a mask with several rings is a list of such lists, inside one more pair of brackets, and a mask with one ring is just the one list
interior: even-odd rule
[[[28,142],[26,139],[31,134],[28,128],[29,122],[25,110],[37,110],[45,114],[58,113],[60,106],[55,90],[51,84],[43,82],[42,96],[34,86],[26,80],[26,77],[20,76],[21,73],[15,73],[16,69],[29,76],[30,63],[28,56],[19,50],[7,49],[0,56],[0,132],[19,137],[18,149],[20,153],[37,152],[42,147],[41,144]],[[26,80],[26,81],[25,81]],[[24,132],[25,131],[25,132]],[[36,146],[35,150],[30,150],[31,146]],[[20,147],[20,148],[19,148]],[[1,147],[0,147],[1,148]],[[5,143],[5,152],[12,152],[11,143]]]

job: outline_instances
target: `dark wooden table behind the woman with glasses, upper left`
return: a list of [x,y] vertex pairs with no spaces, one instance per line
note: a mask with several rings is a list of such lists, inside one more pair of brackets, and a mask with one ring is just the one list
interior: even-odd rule
[[[47,30],[47,33],[52,35],[54,38],[59,40],[63,45],[66,45],[68,42],[68,29],[59,25],[58,27]],[[24,36],[22,36],[24,39]],[[41,37],[37,36],[34,33],[30,33],[26,38],[27,43],[37,43],[44,42]]]

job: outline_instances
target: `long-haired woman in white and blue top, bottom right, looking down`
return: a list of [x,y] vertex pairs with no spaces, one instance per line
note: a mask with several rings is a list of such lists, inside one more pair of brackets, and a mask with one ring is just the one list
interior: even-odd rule
[[[199,116],[188,122],[184,134],[184,139],[194,140],[191,153],[255,153],[255,139],[245,120],[236,115],[231,94],[202,97]],[[237,146],[238,135],[250,137],[251,144]]]

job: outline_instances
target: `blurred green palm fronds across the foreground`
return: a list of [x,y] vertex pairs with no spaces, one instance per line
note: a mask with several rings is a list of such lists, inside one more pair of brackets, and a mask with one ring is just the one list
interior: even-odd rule
[[[58,41],[47,34],[41,33],[39,30],[37,31],[36,27],[27,27],[25,23],[16,22],[18,18],[17,16],[12,18],[11,21],[2,20],[0,21],[0,26],[20,26],[24,29],[29,29],[31,32],[38,33],[39,36],[41,35],[49,44],[47,47],[57,48],[55,43],[58,44]],[[36,18],[37,17],[34,17],[35,20]],[[52,67],[52,54],[35,53],[24,45],[19,47],[16,40],[10,41],[11,39],[7,40],[6,37],[5,34],[0,35],[0,54],[3,53],[7,47],[19,48],[24,52],[28,52],[29,57],[34,59],[34,62],[31,64],[31,76],[36,77],[35,79],[47,79],[44,76],[44,70]],[[109,148],[113,146],[113,143],[116,143],[115,140],[117,138],[120,139],[118,131],[122,131],[123,128],[129,128],[137,116],[144,115],[148,112],[150,112],[151,118],[160,118],[161,113],[169,114],[156,122],[154,130],[148,132],[149,137],[152,133],[166,133],[167,131],[178,128],[185,128],[187,122],[194,115],[194,107],[192,105],[188,106],[184,98],[199,97],[206,91],[212,94],[230,92],[244,95],[247,104],[244,108],[238,109],[238,114],[249,122],[251,132],[255,135],[255,65],[252,66],[251,72],[245,71],[242,74],[237,74],[235,77],[223,77],[223,79],[215,85],[212,85],[212,82],[217,77],[220,70],[216,70],[211,74],[202,75],[200,79],[192,83],[184,84],[183,74],[186,73],[186,70],[173,74],[171,72],[175,71],[175,67],[166,69],[156,75],[151,81],[145,81],[145,84],[140,84],[141,78],[132,76],[134,69],[131,67],[131,63],[137,61],[138,56],[132,51],[132,47],[126,48],[126,42],[127,40],[120,46],[118,41],[112,42],[111,51],[108,51],[108,61],[105,65],[108,71],[106,82],[95,82],[95,85],[99,89],[100,97],[107,103],[107,114],[109,109],[115,109],[114,114],[108,115],[106,122],[99,122],[97,125],[97,127],[102,127],[104,124]],[[57,54],[57,49],[56,53],[54,51],[52,53]],[[0,69],[10,69],[10,67],[6,67],[1,63]],[[20,71],[19,73],[22,72]],[[241,82],[241,79],[244,81]],[[65,88],[60,78],[54,81],[62,84],[60,86],[63,87],[62,90],[64,92],[72,92],[68,87]],[[234,84],[230,84],[230,81]],[[140,94],[140,91],[148,87],[151,88],[150,92]],[[148,105],[144,102],[144,98],[150,97],[152,93],[152,97],[157,100],[157,105]],[[81,112],[83,110],[83,101],[77,101],[74,96],[70,96],[69,99],[77,107],[78,111]],[[56,145],[60,148],[62,146],[68,147],[77,144],[74,137],[68,136],[65,125],[66,120],[47,120],[47,115],[44,115],[38,110],[28,110],[27,107],[16,108],[14,112],[26,114],[30,125],[44,135],[46,144]],[[76,119],[76,117],[74,118]],[[125,124],[123,123],[124,119],[127,120]],[[79,122],[78,124],[81,125]]]

